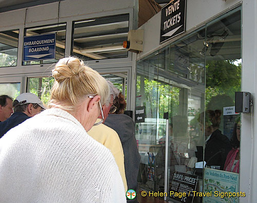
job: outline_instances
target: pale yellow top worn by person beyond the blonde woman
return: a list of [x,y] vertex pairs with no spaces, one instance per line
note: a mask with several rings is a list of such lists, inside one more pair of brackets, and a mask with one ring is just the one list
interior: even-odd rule
[[119,135],[116,133],[115,130],[109,128],[108,126],[105,126],[104,124],[93,126],[91,130],[89,130],[87,133],[112,152],[116,164],[118,165],[126,192],[127,181],[124,168],[124,154]]

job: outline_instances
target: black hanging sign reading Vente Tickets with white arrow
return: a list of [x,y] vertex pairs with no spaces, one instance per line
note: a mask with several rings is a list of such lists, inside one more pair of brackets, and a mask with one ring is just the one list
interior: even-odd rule
[[160,43],[186,30],[186,0],[174,0],[161,9]]

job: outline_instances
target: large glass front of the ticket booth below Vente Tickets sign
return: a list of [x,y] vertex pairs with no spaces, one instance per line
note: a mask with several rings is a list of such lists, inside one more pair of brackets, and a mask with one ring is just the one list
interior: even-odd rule
[[[238,173],[240,116],[224,115],[223,108],[233,108],[234,92],[241,90],[240,9],[137,62],[136,106],[145,107],[144,123],[136,124],[141,155],[138,180],[142,189],[163,192],[167,175],[168,193],[176,191],[178,185],[185,183],[176,185],[175,175],[182,174],[198,179],[191,191],[208,192],[209,180],[204,174],[209,169],[203,169],[203,164],[195,168],[195,163],[205,160],[207,167],[213,168],[210,170],[223,169],[230,150],[226,145],[236,153],[233,163],[227,158],[227,163],[235,166],[226,170]],[[168,132],[163,116],[166,112]],[[222,140],[210,146],[216,132]],[[168,172],[164,171],[165,161]],[[187,184],[183,186],[180,191],[188,192]],[[168,199],[181,201],[169,195]],[[203,201],[202,197],[193,200]]]

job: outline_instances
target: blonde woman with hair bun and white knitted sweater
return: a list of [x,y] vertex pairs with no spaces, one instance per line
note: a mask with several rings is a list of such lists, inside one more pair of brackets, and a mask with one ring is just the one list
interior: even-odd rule
[[75,57],[52,76],[49,109],[0,139],[0,202],[125,203],[112,153],[87,134],[109,104],[106,80]]

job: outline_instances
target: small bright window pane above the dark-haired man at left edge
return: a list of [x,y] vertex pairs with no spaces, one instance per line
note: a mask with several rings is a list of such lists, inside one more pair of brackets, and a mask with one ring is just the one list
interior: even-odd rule
[[0,95],[8,95],[15,99],[20,95],[21,83],[0,83]]

